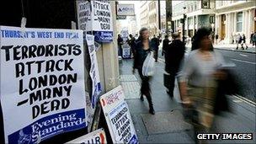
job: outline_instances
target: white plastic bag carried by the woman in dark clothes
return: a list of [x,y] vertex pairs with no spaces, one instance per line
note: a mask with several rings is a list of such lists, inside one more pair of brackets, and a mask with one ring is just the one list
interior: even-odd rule
[[149,52],[142,66],[142,75],[149,77],[154,75],[155,69],[155,59],[153,57],[153,52]]

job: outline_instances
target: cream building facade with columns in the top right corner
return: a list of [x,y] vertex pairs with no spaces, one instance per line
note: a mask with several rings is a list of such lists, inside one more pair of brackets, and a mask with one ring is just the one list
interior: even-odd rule
[[236,42],[237,35],[250,35],[256,31],[256,2],[216,1],[216,34],[224,44]]

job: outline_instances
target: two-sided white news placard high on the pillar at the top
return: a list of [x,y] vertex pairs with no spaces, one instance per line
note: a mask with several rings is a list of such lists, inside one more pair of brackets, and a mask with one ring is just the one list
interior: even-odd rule
[[113,41],[112,15],[109,0],[77,1],[78,29],[93,32],[96,41]]

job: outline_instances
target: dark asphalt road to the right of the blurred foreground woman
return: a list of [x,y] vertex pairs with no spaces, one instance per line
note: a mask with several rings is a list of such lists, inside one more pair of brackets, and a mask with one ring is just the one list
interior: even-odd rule
[[[239,51],[226,51],[216,49],[221,52],[225,61],[234,63],[236,67],[232,67],[235,78],[239,81],[241,88],[241,96],[256,102],[256,55],[253,53],[245,53]],[[159,52],[160,54],[162,52]],[[163,56],[159,56],[163,59]]]

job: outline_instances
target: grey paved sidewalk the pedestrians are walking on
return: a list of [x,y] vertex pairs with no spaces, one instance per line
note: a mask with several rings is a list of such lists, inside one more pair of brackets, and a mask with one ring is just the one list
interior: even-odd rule
[[[156,115],[148,113],[147,99],[140,99],[140,78],[131,73],[132,60],[120,63],[120,83],[125,90],[125,99],[131,111],[140,143],[195,143],[193,128],[184,121],[183,109],[171,99],[163,87],[163,61],[156,63],[152,77],[152,101]],[[253,132],[252,141],[208,141],[208,143],[255,143],[255,107],[232,97],[232,112],[216,116],[217,132]]]

